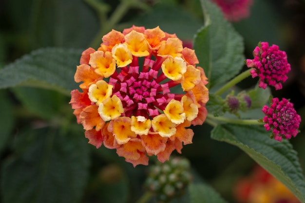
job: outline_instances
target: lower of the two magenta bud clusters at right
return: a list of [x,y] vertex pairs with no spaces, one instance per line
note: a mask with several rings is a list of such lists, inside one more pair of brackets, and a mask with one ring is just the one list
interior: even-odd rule
[[283,98],[273,98],[270,107],[264,106],[262,111],[265,113],[263,122],[267,131],[272,129],[275,140],[282,141],[282,137],[290,139],[299,133],[301,116],[293,108],[293,104]]

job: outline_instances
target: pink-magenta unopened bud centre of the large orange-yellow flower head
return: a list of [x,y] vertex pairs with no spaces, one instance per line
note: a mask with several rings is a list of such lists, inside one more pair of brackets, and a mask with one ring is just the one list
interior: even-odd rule
[[160,84],[166,77],[159,71],[165,58],[156,60],[151,55],[145,57],[142,68],[138,66],[138,58],[133,57],[130,67],[117,69],[110,77],[109,84],[114,86],[113,93],[122,101],[125,116],[144,116],[146,118],[159,115],[172,100],[180,100],[182,95],[171,93],[170,88],[180,82],[169,81]]

